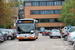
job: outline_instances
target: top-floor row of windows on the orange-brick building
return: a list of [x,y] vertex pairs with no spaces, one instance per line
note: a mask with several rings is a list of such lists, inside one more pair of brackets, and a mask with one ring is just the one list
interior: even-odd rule
[[51,6],[51,5],[62,5],[64,1],[49,1],[49,2],[31,2],[32,6]]

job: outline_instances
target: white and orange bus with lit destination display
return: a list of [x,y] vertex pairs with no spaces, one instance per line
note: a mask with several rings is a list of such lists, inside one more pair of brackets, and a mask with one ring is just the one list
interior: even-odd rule
[[38,39],[38,21],[35,19],[18,19],[17,26],[17,39]]

